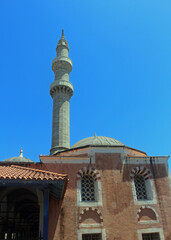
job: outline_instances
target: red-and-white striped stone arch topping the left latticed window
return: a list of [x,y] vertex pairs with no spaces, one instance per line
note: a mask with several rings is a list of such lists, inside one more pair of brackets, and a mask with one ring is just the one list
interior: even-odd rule
[[100,176],[100,173],[98,172],[98,170],[95,168],[92,168],[92,167],[81,168],[77,173],[77,180],[81,180],[81,177],[86,174],[91,175],[95,181],[101,180],[101,176]]

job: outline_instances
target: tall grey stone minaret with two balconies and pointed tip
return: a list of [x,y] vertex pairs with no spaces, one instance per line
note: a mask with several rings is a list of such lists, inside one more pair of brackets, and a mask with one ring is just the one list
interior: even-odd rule
[[72,61],[68,57],[68,52],[68,43],[62,30],[61,39],[56,47],[57,56],[52,61],[55,80],[50,85],[50,95],[53,98],[51,155],[70,148],[69,100],[73,95],[73,86],[69,82]]

